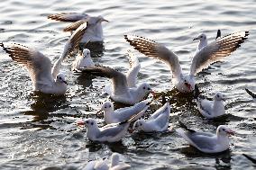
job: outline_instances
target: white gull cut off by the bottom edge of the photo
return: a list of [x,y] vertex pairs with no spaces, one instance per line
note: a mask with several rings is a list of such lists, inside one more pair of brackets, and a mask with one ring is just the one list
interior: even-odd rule
[[113,153],[110,164],[107,164],[107,161],[103,159],[91,161],[87,164],[85,170],[124,170],[129,167],[131,166],[126,163],[120,163],[119,154]]

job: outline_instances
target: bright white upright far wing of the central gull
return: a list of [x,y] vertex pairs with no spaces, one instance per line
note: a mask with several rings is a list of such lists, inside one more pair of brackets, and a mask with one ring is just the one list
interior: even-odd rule
[[130,69],[126,74],[127,83],[129,87],[136,87],[137,76],[141,69],[141,64],[139,62],[139,59],[130,50],[128,50],[128,56]]

